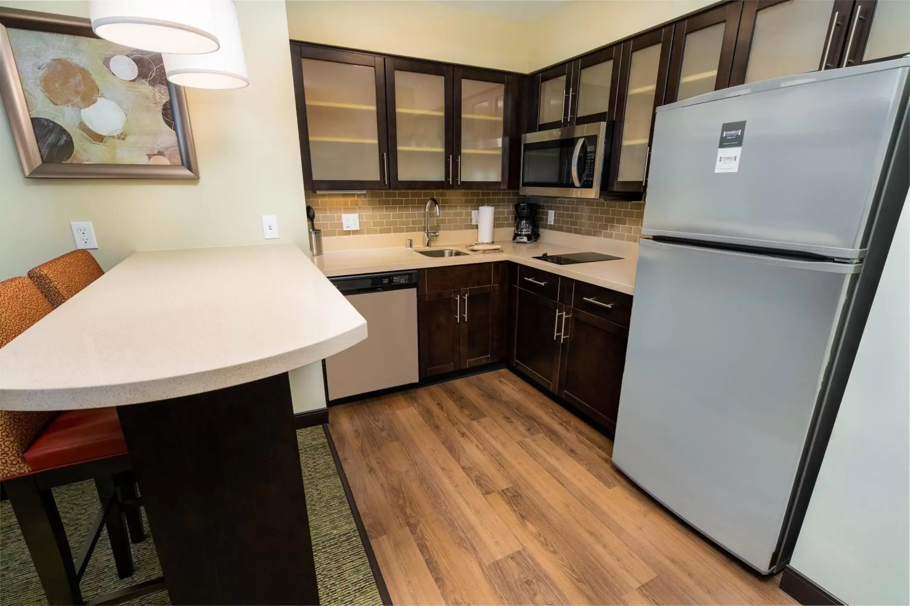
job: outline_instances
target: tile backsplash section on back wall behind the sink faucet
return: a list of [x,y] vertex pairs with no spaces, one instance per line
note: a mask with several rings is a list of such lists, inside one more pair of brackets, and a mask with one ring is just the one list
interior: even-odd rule
[[[470,224],[470,212],[484,204],[496,207],[494,227],[511,227],[514,224],[512,205],[518,202],[515,191],[369,191],[362,193],[307,192],[307,204],[316,211],[316,228],[323,230],[323,237],[362,233],[422,232],[424,207],[427,200],[436,198],[440,203],[440,216],[432,216],[430,225],[440,230],[476,229]],[[343,231],[341,214],[359,214],[360,229]]]

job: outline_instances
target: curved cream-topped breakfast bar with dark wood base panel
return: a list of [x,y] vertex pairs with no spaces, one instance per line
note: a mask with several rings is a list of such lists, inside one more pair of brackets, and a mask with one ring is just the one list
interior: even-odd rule
[[318,603],[288,371],[366,335],[292,244],[135,253],[0,349],[0,408],[118,407],[174,603]]

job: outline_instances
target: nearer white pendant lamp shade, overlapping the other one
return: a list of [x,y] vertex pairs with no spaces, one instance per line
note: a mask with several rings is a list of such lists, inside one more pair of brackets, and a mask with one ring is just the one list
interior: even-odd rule
[[90,0],[95,34],[154,53],[199,55],[218,49],[212,0]]

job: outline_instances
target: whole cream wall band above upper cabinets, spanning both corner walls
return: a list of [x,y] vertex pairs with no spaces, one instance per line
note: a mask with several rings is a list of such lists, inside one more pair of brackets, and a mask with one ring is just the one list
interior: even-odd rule
[[715,0],[575,0],[525,23],[426,0],[288,0],[295,40],[530,73]]

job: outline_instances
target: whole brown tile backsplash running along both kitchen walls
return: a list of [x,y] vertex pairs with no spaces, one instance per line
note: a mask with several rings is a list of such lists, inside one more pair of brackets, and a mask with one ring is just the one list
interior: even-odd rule
[[[511,227],[515,223],[513,204],[530,201],[538,204],[541,229],[626,242],[638,242],[642,233],[643,202],[523,196],[514,190],[307,192],[307,204],[316,211],[316,228],[323,230],[323,237],[407,233],[423,231],[424,206],[431,197],[439,201],[441,214],[431,217],[430,225],[439,224],[440,230],[445,231],[476,229],[470,223],[470,213],[484,204],[496,207],[494,227]],[[547,224],[550,210],[555,211],[551,225]],[[341,214],[345,213],[359,214],[359,230],[341,229]]]

